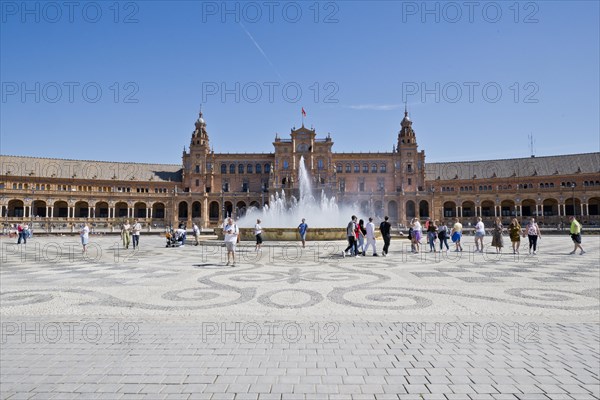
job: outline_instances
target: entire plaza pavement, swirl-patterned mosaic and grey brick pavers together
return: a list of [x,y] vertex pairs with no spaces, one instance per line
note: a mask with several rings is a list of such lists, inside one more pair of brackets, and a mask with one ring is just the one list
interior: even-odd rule
[[582,256],[567,235],[536,256],[242,243],[235,267],[211,240],[91,243],[3,237],[0,398],[599,398],[599,236]]

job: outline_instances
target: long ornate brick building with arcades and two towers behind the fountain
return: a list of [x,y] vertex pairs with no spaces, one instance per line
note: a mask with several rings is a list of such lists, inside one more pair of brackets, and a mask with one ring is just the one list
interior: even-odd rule
[[181,164],[139,164],[0,156],[5,227],[32,222],[50,229],[88,221],[98,227],[137,218],[156,227],[192,221],[217,226],[263,207],[270,195],[297,194],[299,163],[316,193],[354,204],[357,214],[406,225],[414,217],[542,224],[576,214],[600,222],[600,153],[492,161],[426,163],[405,111],[391,152],[335,153],[330,135],[292,129],[273,152],[215,153],[200,113]]

